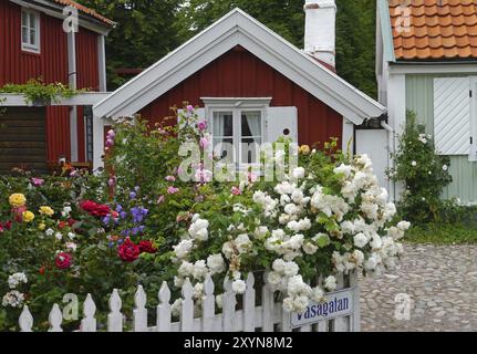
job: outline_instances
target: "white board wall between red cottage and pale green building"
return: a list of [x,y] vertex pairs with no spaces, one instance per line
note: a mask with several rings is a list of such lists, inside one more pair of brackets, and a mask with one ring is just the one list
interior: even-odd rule
[[387,132],[384,129],[356,129],[356,154],[366,154],[371,158],[380,186],[390,190],[390,180],[386,178],[390,163]]

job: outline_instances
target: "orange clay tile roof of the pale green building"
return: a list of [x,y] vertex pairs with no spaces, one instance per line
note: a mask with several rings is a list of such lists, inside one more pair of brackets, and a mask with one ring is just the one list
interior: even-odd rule
[[477,0],[388,3],[396,60],[477,59]]

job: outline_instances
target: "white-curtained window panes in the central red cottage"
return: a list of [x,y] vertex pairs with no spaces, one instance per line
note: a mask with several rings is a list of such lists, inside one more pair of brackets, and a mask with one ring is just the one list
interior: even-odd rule
[[257,108],[211,110],[215,155],[238,167],[259,163],[263,142],[263,111]]

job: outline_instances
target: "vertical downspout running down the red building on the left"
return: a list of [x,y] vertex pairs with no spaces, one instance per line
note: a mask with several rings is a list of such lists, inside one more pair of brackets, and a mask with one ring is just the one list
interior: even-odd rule
[[[76,90],[76,33],[74,30],[68,32],[68,77],[70,88]],[[71,162],[77,162],[77,110],[70,108],[70,146]]]

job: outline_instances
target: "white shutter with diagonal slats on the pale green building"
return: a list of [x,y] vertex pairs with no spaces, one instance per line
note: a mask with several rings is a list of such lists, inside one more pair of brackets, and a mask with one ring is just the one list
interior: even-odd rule
[[440,155],[470,154],[468,77],[434,79],[434,138]]

